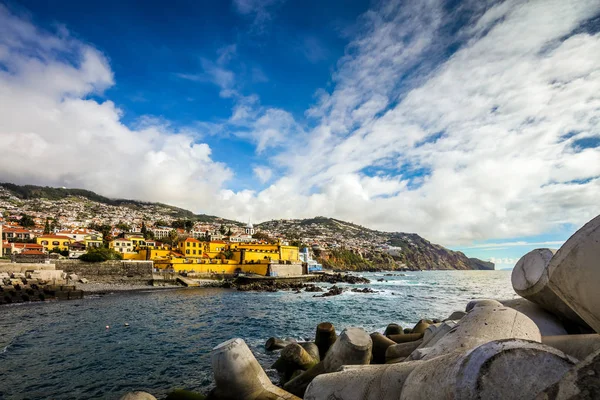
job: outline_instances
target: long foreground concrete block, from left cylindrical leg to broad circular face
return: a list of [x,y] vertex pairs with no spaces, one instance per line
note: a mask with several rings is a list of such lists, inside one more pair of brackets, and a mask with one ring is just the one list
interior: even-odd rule
[[574,365],[574,359],[551,347],[507,339],[428,361],[346,366],[315,378],[304,398],[532,399]]

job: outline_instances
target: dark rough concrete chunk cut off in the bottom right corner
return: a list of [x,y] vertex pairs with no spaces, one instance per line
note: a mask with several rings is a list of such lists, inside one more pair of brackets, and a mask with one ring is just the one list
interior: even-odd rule
[[536,400],[600,399],[600,350],[567,372],[560,381],[546,388]]

